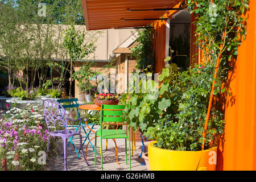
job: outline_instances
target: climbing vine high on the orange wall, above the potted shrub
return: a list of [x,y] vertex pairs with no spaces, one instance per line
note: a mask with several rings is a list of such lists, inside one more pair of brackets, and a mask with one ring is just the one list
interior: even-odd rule
[[[232,60],[237,59],[238,46],[246,38],[246,11],[249,0],[186,0],[181,6],[196,15],[196,43],[204,54],[205,64],[216,63],[220,55],[220,67],[214,95],[229,91],[223,88],[232,70]],[[193,36],[193,35],[192,35]]]

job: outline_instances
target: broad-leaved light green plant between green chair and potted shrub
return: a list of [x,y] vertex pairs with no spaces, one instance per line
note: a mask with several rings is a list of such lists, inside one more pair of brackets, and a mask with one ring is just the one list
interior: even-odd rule
[[[138,77],[133,77],[134,82],[136,83],[138,81],[139,84],[129,86],[129,88],[132,89],[129,90],[129,93],[122,95],[122,102],[126,103],[123,119],[130,123],[134,131],[136,131],[138,127],[142,132],[147,131],[148,127],[154,126],[154,123],[162,118],[162,115],[167,114],[164,110],[168,109],[172,103],[168,86],[174,79],[176,72],[176,64],[168,64],[166,68],[163,69],[162,74],[159,76],[159,81],[162,81],[159,90],[159,94],[162,95],[161,97],[156,95],[158,93],[156,92],[158,84],[154,80],[146,77],[145,79],[137,80]],[[147,73],[147,77],[150,76],[150,73]],[[137,86],[138,88],[142,88],[138,90],[138,93]],[[146,90],[147,92],[145,92]],[[129,97],[130,103],[125,102]]]

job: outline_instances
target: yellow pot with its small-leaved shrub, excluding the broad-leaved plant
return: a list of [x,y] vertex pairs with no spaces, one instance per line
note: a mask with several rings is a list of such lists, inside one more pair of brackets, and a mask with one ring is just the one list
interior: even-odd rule
[[148,144],[150,170],[216,169],[216,146],[224,133],[224,114],[217,101],[211,110],[214,117],[209,119],[207,135],[203,135],[213,72],[214,64],[210,62],[174,74],[168,92],[163,93],[163,97],[171,93],[171,105],[145,133],[156,140]]

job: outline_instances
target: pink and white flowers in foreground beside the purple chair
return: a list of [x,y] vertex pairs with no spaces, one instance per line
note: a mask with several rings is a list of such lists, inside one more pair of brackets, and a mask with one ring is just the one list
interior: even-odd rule
[[28,104],[27,109],[6,111],[0,118],[0,169],[43,169],[38,153],[46,151],[48,134],[41,107]]

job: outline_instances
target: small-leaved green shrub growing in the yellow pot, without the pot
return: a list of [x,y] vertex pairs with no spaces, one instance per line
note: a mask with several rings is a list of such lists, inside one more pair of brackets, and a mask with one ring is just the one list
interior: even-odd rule
[[[158,141],[156,146],[168,150],[201,150],[213,72],[214,64],[209,63],[175,73],[168,88],[171,105],[166,114],[146,131],[148,138]],[[209,119],[205,148],[209,148],[210,143],[216,142],[224,132],[224,114],[218,102],[211,115],[214,117]]]

